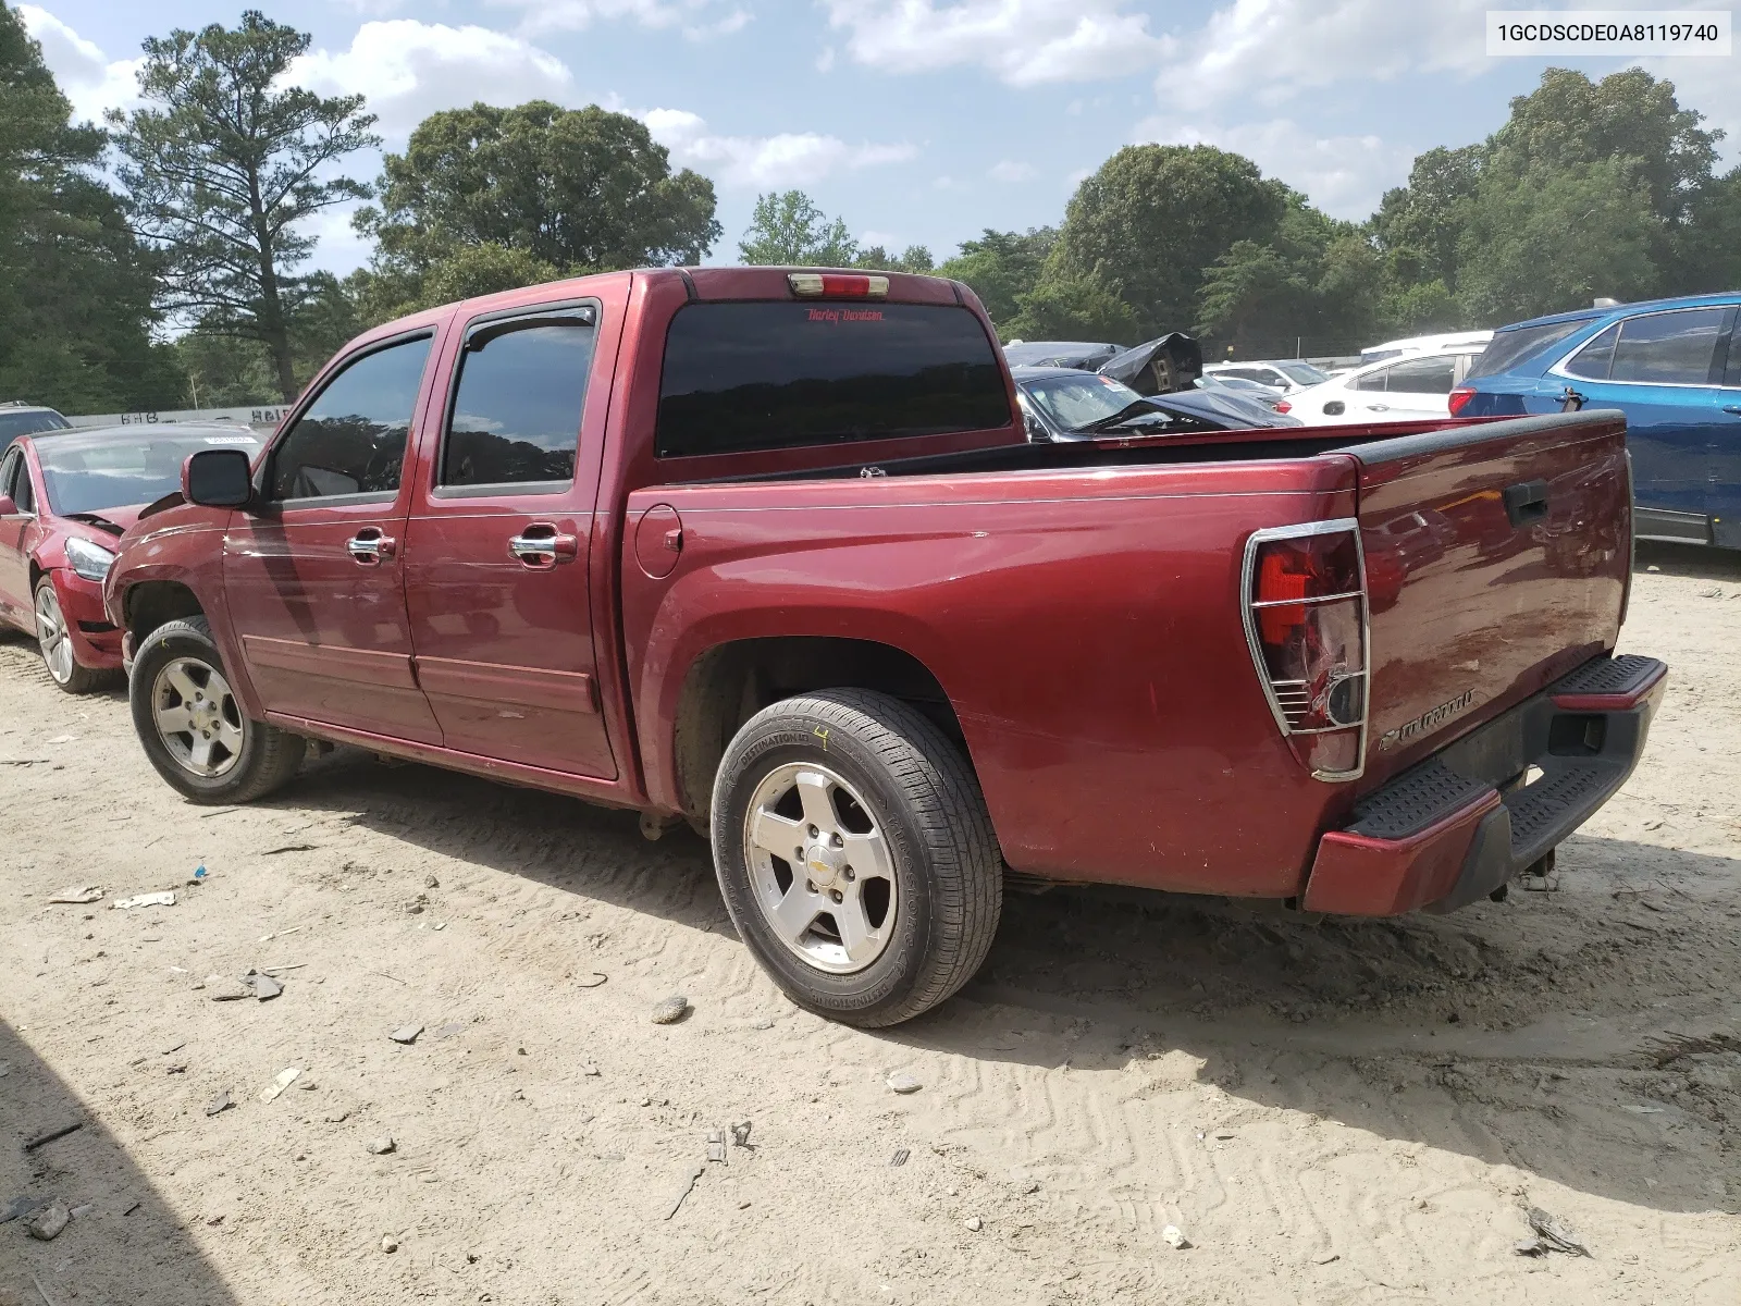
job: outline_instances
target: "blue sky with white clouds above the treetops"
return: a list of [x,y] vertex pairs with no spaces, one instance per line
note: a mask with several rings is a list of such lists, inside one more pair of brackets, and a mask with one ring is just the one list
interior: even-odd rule
[[[1631,0],[1640,9],[1652,5]],[[531,98],[644,118],[714,178],[733,261],[757,192],[797,186],[862,242],[938,258],[985,226],[1057,223],[1135,141],[1208,141],[1341,218],[1415,153],[1476,141],[1544,59],[1485,54],[1487,0],[279,0],[313,35],[298,70],[362,92],[387,148],[435,110]],[[1518,7],[1522,0],[1518,0]],[[1699,0],[1656,9],[1720,7]],[[207,0],[21,5],[84,115],[125,106],[139,42],[233,24]],[[1684,106],[1741,145],[1736,57],[1656,59]],[[1556,59],[1595,77],[1617,59]],[[374,158],[352,169],[373,179]],[[366,258],[343,214],[315,263]]]

